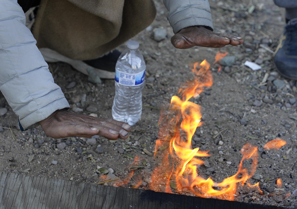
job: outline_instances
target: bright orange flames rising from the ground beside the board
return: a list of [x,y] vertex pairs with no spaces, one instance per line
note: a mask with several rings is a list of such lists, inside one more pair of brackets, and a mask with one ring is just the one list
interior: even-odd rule
[[[225,55],[226,53],[223,55],[218,53],[216,62]],[[198,96],[203,88],[211,87],[213,77],[209,67],[210,64],[206,60],[200,64],[195,63],[192,69],[196,75],[194,80],[188,81],[179,90],[180,97],[173,96],[171,98],[170,109],[166,110],[168,112],[165,110],[161,112],[158,122],[160,125],[159,138],[156,140],[154,157],[158,155],[162,159],[162,163],[154,169],[151,183],[147,185],[147,188],[159,192],[184,192],[199,197],[234,200],[236,188],[240,184],[241,187],[247,187],[263,194],[259,183],[251,185],[249,182],[249,178],[255,173],[258,162],[258,148],[251,144],[247,143],[241,149],[243,157],[238,166],[238,172],[225,178],[222,182],[216,183],[210,177],[205,179],[197,172],[199,167],[204,164],[204,161],[199,158],[209,156],[209,154],[208,151],[201,151],[199,148],[192,149],[192,137],[197,127],[202,125],[202,115],[200,105],[189,100]],[[275,139],[268,142],[264,148],[279,149],[285,144],[284,140]],[[132,164],[137,161],[138,159],[135,159]],[[133,172],[130,172],[124,183],[131,179]],[[135,183],[141,184],[136,181]],[[277,180],[277,186],[281,186],[280,179]]]

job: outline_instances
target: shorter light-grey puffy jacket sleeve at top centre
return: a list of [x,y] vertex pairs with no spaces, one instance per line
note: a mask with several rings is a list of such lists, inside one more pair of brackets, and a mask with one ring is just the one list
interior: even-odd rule
[[214,28],[208,0],[163,0],[169,14],[167,19],[177,33],[188,26]]

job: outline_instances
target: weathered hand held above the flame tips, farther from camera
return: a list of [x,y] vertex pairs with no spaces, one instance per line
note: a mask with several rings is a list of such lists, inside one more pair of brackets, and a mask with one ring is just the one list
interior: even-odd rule
[[240,45],[243,43],[243,38],[215,33],[203,26],[190,26],[181,29],[171,37],[171,43],[179,49],[187,49],[193,46],[219,48],[228,44],[233,46]]

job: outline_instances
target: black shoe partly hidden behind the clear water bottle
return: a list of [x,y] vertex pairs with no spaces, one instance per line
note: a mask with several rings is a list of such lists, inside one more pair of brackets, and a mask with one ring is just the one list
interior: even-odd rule
[[116,61],[118,60],[120,55],[121,52],[119,50],[113,50],[102,57],[91,60],[83,60],[83,62],[97,69],[115,72]]

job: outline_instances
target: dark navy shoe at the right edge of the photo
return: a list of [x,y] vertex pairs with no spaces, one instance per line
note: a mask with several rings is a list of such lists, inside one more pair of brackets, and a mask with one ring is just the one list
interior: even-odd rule
[[285,27],[274,63],[282,76],[297,80],[297,18],[291,19]]

